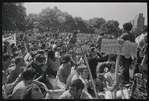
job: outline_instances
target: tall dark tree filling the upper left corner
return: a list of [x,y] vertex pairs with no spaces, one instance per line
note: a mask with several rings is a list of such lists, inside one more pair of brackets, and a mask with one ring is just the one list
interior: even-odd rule
[[2,29],[20,30],[26,28],[26,8],[23,3],[3,3],[2,4]]

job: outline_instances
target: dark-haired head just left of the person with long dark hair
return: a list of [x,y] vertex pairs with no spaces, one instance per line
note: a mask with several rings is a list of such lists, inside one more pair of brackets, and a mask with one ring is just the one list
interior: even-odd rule
[[45,61],[46,61],[46,58],[45,58],[43,55],[37,54],[37,55],[35,56],[35,63],[36,63],[38,66],[45,64]]

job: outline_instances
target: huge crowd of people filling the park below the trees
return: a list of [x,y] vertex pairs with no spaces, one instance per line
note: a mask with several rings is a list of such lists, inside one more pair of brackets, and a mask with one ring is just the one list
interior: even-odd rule
[[68,37],[21,40],[17,45],[3,42],[2,98],[146,99],[147,27],[137,37],[131,29],[132,25],[125,23],[119,38],[138,44],[137,58],[120,57],[116,82],[116,55],[101,53],[97,41],[86,54],[88,66],[84,55],[72,51],[77,31]]

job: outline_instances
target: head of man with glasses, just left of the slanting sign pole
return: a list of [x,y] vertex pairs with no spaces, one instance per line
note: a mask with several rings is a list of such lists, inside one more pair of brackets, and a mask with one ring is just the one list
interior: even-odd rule
[[89,77],[89,70],[88,70],[88,68],[87,68],[86,65],[80,65],[80,66],[78,66],[78,68],[77,68],[76,71],[78,72],[78,74],[81,77],[83,77],[85,79],[87,79]]

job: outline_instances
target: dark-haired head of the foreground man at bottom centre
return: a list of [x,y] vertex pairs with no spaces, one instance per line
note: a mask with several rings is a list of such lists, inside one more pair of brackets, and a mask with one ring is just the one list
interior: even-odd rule
[[70,83],[69,93],[73,97],[78,97],[81,95],[83,89],[84,89],[83,82],[80,79],[75,79]]

